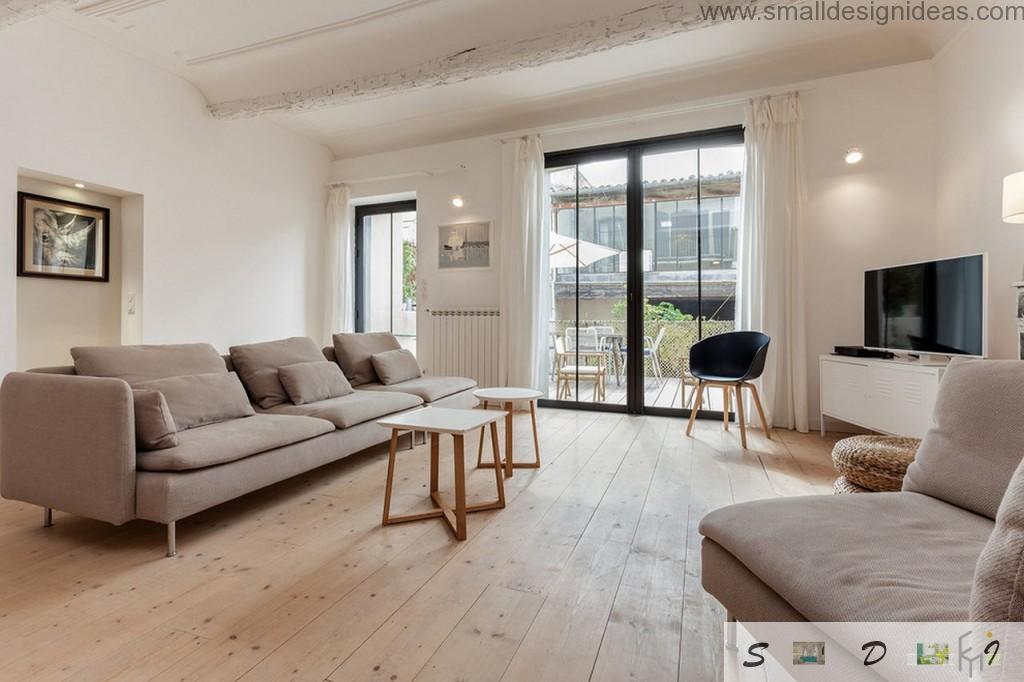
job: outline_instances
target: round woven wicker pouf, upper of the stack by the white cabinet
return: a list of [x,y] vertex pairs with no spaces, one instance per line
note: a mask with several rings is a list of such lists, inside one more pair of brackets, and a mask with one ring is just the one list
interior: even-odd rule
[[860,487],[878,493],[898,491],[919,445],[920,438],[851,436],[836,443],[833,464],[848,481]]

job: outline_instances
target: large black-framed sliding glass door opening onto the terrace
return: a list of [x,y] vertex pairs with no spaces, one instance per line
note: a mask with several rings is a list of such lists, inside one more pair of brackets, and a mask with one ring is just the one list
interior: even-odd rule
[[687,414],[690,346],[733,328],[742,163],[738,127],[547,156],[551,402]]

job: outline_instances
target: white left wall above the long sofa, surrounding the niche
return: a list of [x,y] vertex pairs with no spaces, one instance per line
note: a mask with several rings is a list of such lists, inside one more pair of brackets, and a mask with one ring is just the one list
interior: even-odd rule
[[4,29],[0,65],[0,372],[15,366],[18,167],[143,196],[145,342],[321,335],[325,147],[214,121],[181,79],[48,18]]

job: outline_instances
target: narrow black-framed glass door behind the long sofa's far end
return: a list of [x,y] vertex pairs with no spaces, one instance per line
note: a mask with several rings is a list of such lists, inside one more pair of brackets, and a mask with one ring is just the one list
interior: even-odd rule
[[355,208],[355,331],[416,352],[416,202]]

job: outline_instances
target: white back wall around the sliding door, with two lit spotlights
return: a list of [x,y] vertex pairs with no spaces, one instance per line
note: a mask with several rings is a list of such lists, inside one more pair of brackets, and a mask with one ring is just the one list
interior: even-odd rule
[[[934,93],[930,62],[794,87],[804,91],[806,114],[808,366],[816,422],[818,354],[862,341],[863,269],[927,258],[935,251]],[[543,139],[550,152],[739,123],[740,104],[698,105],[689,113],[587,125]],[[843,160],[852,145],[865,153],[856,167]],[[496,254],[501,249],[500,146],[497,139],[475,138],[334,164],[335,180],[356,180],[351,185],[355,197],[416,194],[421,291],[427,302],[421,308],[498,304],[497,270],[438,273],[435,261],[436,225],[456,219],[495,221]],[[372,179],[422,171],[433,174]],[[455,195],[465,198],[464,209],[452,207]],[[429,329],[425,323],[421,311],[421,336]]]

